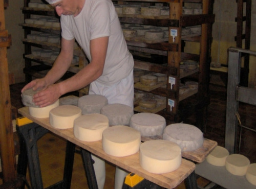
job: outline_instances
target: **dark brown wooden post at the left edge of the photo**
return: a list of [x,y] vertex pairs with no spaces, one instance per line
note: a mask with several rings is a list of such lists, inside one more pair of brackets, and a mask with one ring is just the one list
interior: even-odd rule
[[16,179],[16,161],[7,63],[9,43],[8,32],[5,30],[4,5],[4,0],[0,0],[0,149],[4,182],[12,182]]

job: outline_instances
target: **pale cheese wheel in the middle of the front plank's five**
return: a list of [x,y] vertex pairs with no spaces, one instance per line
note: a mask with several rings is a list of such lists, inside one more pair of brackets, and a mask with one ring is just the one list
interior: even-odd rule
[[98,141],[109,127],[109,119],[99,113],[81,115],[74,121],[74,135],[82,141]]

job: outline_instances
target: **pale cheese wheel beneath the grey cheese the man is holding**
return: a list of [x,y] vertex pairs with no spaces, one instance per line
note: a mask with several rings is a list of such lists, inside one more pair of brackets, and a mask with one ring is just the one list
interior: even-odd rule
[[29,114],[33,117],[37,117],[37,118],[46,118],[49,117],[50,111],[53,108],[56,108],[59,106],[59,100],[57,100],[55,103],[46,106],[46,107],[42,107],[42,108],[36,108],[36,107],[30,107],[29,106]]

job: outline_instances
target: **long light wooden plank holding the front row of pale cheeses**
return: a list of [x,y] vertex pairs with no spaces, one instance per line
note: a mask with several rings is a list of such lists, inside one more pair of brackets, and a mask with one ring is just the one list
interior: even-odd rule
[[67,139],[71,143],[88,150],[89,152],[99,156],[106,161],[109,161],[116,166],[123,168],[129,172],[135,173],[151,182],[154,182],[165,188],[174,188],[180,184],[185,178],[187,178],[195,170],[195,163],[182,159],[181,166],[173,172],[165,174],[153,174],[145,171],[141,168],[139,163],[139,152],[136,154],[126,156],[126,157],[114,157],[106,154],[102,149],[102,141],[95,142],[84,142],[75,138],[73,134],[73,129],[56,129],[52,127],[49,123],[49,118],[38,119],[29,114],[28,107],[23,107],[18,109],[18,113],[22,114],[28,119],[32,120],[34,123],[44,127],[45,129]]

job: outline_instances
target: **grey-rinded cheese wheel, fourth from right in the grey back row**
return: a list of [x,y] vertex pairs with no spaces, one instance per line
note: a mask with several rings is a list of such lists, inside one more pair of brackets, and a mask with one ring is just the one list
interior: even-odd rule
[[100,113],[103,106],[108,104],[108,99],[102,95],[85,95],[78,99],[78,107],[82,114]]

